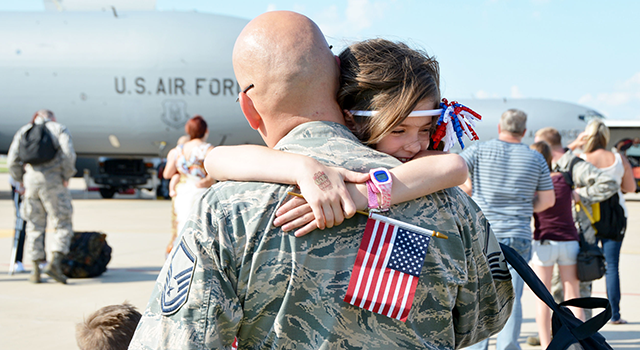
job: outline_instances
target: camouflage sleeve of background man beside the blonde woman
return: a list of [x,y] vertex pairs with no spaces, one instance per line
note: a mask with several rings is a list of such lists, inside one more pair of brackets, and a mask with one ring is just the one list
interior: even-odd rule
[[576,191],[586,203],[601,202],[620,189],[613,177],[587,161],[577,162],[573,166],[572,174]]

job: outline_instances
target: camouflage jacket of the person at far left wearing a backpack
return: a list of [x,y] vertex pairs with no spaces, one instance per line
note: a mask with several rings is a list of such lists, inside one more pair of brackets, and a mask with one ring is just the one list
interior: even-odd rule
[[[43,123],[44,119],[38,117],[36,123]],[[31,123],[23,126],[16,132],[9,147],[9,153],[7,155],[7,166],[9,167],[9,173],[11,177],[18,182],[23,182],[23,176],[26,172],[36,172],[30,179],[31,182],[45,183],[55,179],[68,181],[76,173],[76,152],[73,149],[73,141],[71,140],[71,133],[66,126],[47,120],[47,128],[51,132],[55,139],[55,143],[60,147],[55,158],[52,160],[40,164],[40,165],[23,165],[18,155],[18,149],[20,146],[20,140],[22,135],[31,128]],[[59,180],[58,180],[59,181]],[[53,181],[53,182],[58,182]]]

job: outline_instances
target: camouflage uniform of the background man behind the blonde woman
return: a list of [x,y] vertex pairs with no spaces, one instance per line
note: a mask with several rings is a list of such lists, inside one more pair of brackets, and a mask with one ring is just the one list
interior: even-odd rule
[[[569,166],[574,158],[576,158],[576,156],[568,150],[553,165],[553,171],[568,172],[571,170]],[[601,202],[613,196],[620,189],[620,185],[618,185],[613,177],[602,173],[600,169],[587,161],[575,163],[571,176],[576,191],[580,195],[580,200],[589,211],[591,211],[592,203]],[[589,214],[591,214],[591,212]],[[589,243],[594,244],[596,242],[596,232],[593,226],[591,226],[589,217],[584,212],[576,211],[575,206],[573,207],[573,220],[578,230],[582,230],[584,238]],[[554,269],[551,292],[558,303],[564,300],[564,289],[557,269]],[[580,282],[580,297],[586,298],[590,296],[591,282]],[[591,309],[584,309],[584,311],[586,318],[591,318]]]

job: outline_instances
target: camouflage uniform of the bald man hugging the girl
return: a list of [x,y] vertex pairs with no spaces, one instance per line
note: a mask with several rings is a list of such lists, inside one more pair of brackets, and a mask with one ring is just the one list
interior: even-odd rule
[[[328,122],[300,125],[276,148],[356,171],[400,165]],[[459,189],[388,212],[449,236],[431,240],[406,323],[343,301],[365,216],[301,238],[273,227],[292,189],[256,182],[209,189],[160,272],[129,349],[229,349],[236,336],[238,349],[454,349],[506,322],[513,291],[504,257]]]

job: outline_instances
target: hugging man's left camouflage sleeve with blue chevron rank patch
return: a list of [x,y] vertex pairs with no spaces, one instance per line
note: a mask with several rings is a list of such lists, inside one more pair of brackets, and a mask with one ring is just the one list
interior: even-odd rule
[[209,189],[165,262],[129,349],[230,349],[243,316],[233,238]]

